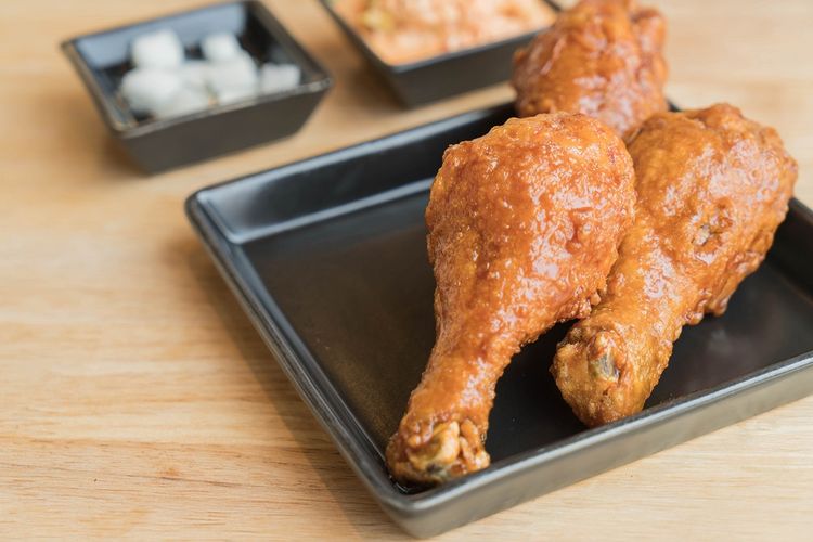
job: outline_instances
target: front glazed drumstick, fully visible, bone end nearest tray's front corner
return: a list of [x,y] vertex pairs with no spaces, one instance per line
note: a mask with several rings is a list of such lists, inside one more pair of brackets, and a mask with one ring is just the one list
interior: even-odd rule
[[498,378],[524,344],[597,301],[633,185],[621,139],[584,115],[511,119],[447,150],[426,209],[436,344],[387,448],[395,478],[488,466]]

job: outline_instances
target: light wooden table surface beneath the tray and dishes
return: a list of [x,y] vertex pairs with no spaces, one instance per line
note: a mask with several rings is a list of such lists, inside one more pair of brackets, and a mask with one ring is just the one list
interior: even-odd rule
[[[182,204],[511,92],[403,112],[315,0],[268,0],[335,89],[293,139],[147,178],[57,43],[198,3],[0,2],[0,534],[403,538],[285,379]],[[813,205],[813,2],[653,3],[670,22],[669,95],[730,101],[775,126]],[[803,539],[812,459],[809,398],[444,538]]]

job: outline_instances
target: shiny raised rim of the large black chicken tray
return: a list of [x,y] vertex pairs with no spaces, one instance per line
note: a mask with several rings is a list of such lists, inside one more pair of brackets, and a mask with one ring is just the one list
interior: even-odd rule
[[[186,216],[195,230],[195,233],[201,238],[202,244],[209,253],[209,256],[212,258],[219,272],[240,301],[240,305],[246,311],[253,325],[274,354],[278,363],[283,369],[283,372],[292,382],[295,389],[322,427],[331,436],[341,455],[350,464],[351,468],[356,472],[357,476],[362,480],[367,490],[371,491],[373,496],[379,502],[385,511],[404,528],[406,528],[404,521],[409,521],[409,519],[416,519],[433,508],[438,508],[462,499],[472,491],[494,485],[508,477],[529,473],[534,468],[543,466],[545,463],[555,461],[564,455],[589,449],[595,444],[607,442],[631,433],[651,429],[661,425],[663,422],[679,418],[705,406],[724,401],[725,399],[744,395],[747,391],[759,390],[770,384],[776,383],[777,380],[787,378],[797,373],[813,371],[813,350],[810,350],[793,358],[782,360],[763,369],[752,371],[746,375],[712,388],[698,390],[693,393],[674,398],[656,406],[648,408],[628,418],[602,427],[585,429],[584,431],[578,433],[572,437],[568,437],[553,444],[527,450],[514,456],[505,457],[492,463],[483,470],[451,480],[442,486],[427,489],[418,493],[406,493],[399,490],[398,486],[389,479],[389,477],[385,478],[384,476],[378,476],[377,472],[380,466],[378,464],[372,465],[370,461],[371,456],[369,454],[372,453],[380,459],[380,453],[375,449],[364,450],[364,447],[362,447],[360,442],[350,435],[350,429],[357,429],[360,435],[365,436],[351,412],[344,408],[344,405],[339,406],[341,408],[340,410],[344,410],[345,412],[337,412],[335,408],[336,405],[332,404],[332,400],[335,400],[335,398],[330,396],[334,393],[338,395],[335,389],[333,389],[332,386],[330,386],[328,389],[319,388],[318,386],[321,386],[324,383],[315,383],[312,375],[308,374],[308,371],[300,365],[301,360],[295,351],[296,347],[289,344],[288,338],[282,332],[279,323],[274,322],[273,314],[266,311],[259,297],[251,292],[246,278],[242,276],[241,270],[237,269],[237,266],[235,266],[234,261],[229,257],[233,256],[231,246],[240,245],[241,242],[229,238],[228,231],[223,228],[223,224],[218,223],[219,221],[212,218],[209,214],[210,209],[207,209],[205,205],[206,195],[210,191],[242,182],[263,182],[263,176],[271,173],[283,176],[286,171],[297,170],[311,163],[324,165],[339,162],[341,159],[358,157],[359,155],[365,154],[364,152],[366,150],[387,146],[389,143],[402,140],[404,137],[415,137],[426,131],[443,131],[454,125],[464,125],[478,118],[494,115],[501,111],[509,108],[509,106],[511,102],[474,109],[327,153],[283,164],[263,171],[205,186],[191,194],[184,203]],[[272,179],[267,179],[266,182],[271,180]],[[391,191],[385,191],[383,194],[388,192]],[[813,228],[813,210],[808,208],[796,197],[790,201],[789,207],[793,212],[799,214],[801,218],[805,222],[809,222],[811,228]],[[275,309],[280,314],[283,314],[279,307],[275,307],[275,302],[271,308]],[[283,321],[283,323],[287,322]],[[330,385],[330,378],[325,375],[322,376]],[[340,399],[340,396],[338,397]],[[801,397],[804,396],[793,396],[787,400],[784,400],[783,398],[783,400],[776,401],[770,408],[760,409],[758,412],[766,412],[767,410],[791,402]],[[349,414],[350,418],[356,422],[357,427],[345,427],[339,414]],[[756,414],[747,414],[737,417],[735,421],[726,421],[721,427],[732,425],[737,421],[751,417],[752,415]],[[710,430],[714,429],[700,430],[689,438],[681,439],[680,441],[691,440],[692,438],[707,434]],[[364,440],[366,440],[366,438]],[[366,444],[372,446],[371,442],[366,442]],[[667,443],[662,448],[659,448],[659,450],[672,446],[674,444]],[[651,453],[655,452],[644,453],[641,456],[647,456]],[[622,464],[625,463],[629,462],[622,462]],[[604,470],[606,469],[601,472]],[[595,476],[595,474],[589,474],[586,477],[591,476]],[[585,477],[578,479],[583,478]],[[539,494],[542,494],[542,492]],[[415,533],[414,530],[409,528],[408,531],[413,534]]]

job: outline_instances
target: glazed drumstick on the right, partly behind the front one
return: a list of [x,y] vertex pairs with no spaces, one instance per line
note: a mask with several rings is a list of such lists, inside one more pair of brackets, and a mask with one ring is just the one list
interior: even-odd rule
[[552,367],[589,426],[638,412],[682,327],[725,311],[771,247],[797,177],[778,134],[731,105],[655,115],[629,150],[635,222],[601,304]]

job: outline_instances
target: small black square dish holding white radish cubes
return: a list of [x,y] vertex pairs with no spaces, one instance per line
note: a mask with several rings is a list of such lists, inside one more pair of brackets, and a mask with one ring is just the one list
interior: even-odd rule
[[[291,90],[166,119],[133,115],[118,87],[132,66],[133,38],[162,28],[178,34],[188,57],[215,31],[237,35],[260,63],[293,63],[302,72]],[[157,172],[295,133],[331,88],[327,72],[299,46],[258,1],[220,3],[111,30],[62,44],[113,136],[146,171]]]

